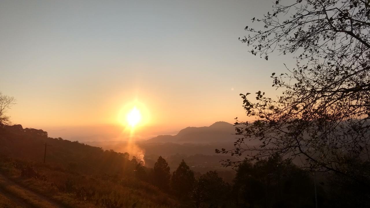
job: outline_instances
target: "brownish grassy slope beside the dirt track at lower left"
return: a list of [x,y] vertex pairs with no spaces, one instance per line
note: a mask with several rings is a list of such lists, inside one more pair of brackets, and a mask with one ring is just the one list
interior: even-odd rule
[[[25,189],[65,207],[180,207],[175,199],[158,188],[131,177],[83,175],[6,157],[0,158],[0,172]],[[27,195],[21,190],[13,189],[13,192]],[[32,203],[37,203],[37,200]]]

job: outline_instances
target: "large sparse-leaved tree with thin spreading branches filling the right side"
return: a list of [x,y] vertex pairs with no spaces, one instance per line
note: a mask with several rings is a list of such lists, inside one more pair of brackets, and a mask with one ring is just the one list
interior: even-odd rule
[[[272,73],[272,86],[283,88],[277,99],[261,91],[240,94],[255,120],[236,120],[236,134],[244,138],[216,152],[245,153],[246,160],[298,156],[307,168],[369,185],[370,175],[348,171],[350,158],[370,162],[369,15],[369,1],[297,0],[288,6],[276,1],[271,13],[253,18],[264,29],[245,28],[249,35],[241,41],[253,47],[250,53],[266,60],[275,50],[295,53],[296,67]],[[249,140],[260,144],[252,147]]]

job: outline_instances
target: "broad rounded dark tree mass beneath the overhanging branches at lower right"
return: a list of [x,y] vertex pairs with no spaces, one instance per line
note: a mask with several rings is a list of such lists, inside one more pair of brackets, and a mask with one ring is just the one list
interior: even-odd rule
[[234,183],[239,199],[249,207],[314,207],[308,172],[277,155],[255,164],[243,162]]

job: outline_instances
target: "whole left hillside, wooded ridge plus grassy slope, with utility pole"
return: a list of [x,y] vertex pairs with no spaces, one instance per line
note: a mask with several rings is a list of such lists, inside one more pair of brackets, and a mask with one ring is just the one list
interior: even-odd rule
[[[46,143],[51,146],[44,164]],[[129,160],[127,153],[50,138],[43,130],[21,125],[1,125],[0,144],[0,175],[21,184],[12,187],[32,196],[35,203],[44,197],[64,207],[181,207],[171,195],[138,178],[138,161]],[[7,187],[9,180],[1,180],[0,185]],[[2,194],[1,201],[9,201],[16,189]]]

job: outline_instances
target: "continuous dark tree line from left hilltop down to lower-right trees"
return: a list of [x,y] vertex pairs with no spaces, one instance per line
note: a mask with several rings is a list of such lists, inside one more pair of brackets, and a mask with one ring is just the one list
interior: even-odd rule
[[[24,129],[21,125],[1,125],[0,142],[1,154],[38,165],[42,164],[43,144],[47,142],[52,147],[47,150],[46,165],[53,170],[95,175],[117,184],[122,177],[132,183],[136,183],[136,178],[191,207],[302,207],[304,204],[309,207],[314,204],[314,185],[309,173],[277,156],[256,163],[244,162],[235,168],[236,176],[229,184],[216,171],[195,177],[185,161],[181,161],[176,170],[170,170],[165,158],[160,156],[154,167],[148,168],[127,152],[50,138],[45,131]],[[324,203],[322,198],[324,190],[319,188],[319,204]]]

